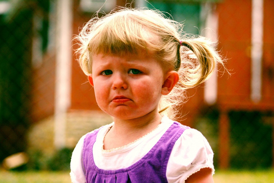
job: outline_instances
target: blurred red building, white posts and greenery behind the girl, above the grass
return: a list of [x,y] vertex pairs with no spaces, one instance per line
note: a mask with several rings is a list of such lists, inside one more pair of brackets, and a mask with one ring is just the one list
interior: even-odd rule
[[96,104],[72,38],[100,7],[109,13],[126,3],[167,12],[186,33],[218,40],[231,76],[218,68],[188,90],[178,120],[206,136],[216,168],[273,167],[273,0],[1,0],[1,167],[69,170],[80,137],[112,122]]

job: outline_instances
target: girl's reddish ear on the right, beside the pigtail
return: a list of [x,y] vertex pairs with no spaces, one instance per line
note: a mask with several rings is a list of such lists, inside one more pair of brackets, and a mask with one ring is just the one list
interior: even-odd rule
[[178,83],[179,81],[179,74],[176,71],[169,71],[166,73],[166,79],[164,81],[164,84],[162,85],[162,95],[169,94],[173,87]]

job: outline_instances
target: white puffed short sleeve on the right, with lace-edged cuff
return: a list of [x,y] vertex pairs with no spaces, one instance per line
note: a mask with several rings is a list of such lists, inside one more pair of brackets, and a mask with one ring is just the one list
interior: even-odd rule
[[201,132],[187,129],[175,142],[167,164],[169,183],[184,183],[202,168],[210,168],[214,174],[213,151]]

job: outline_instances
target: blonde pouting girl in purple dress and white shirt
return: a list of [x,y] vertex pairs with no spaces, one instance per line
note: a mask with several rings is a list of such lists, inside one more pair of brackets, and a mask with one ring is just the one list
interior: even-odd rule
[[222,63],[203,37],[150,9],[123,8],[82,29],[79,63],[114,122],[84,135],[74,183],[213,182],[213,152],[197,130],[171,120],[184,90]]

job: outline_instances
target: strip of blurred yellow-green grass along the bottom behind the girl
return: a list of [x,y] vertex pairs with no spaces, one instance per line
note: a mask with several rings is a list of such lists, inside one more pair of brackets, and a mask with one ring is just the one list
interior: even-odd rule
[[[216,170],[215,183],[273,183],[274,170]],[[64,172],[14,172],[0,171],[1,183],[70,183],[68,171]]]

